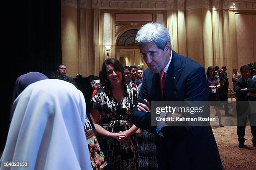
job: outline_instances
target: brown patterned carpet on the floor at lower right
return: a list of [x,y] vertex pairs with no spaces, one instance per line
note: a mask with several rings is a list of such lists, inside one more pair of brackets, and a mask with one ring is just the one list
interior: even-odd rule
[[236,126],[213,126],[224,170],[256,170],[256,147],[251,142],[251,128],[246,126],[245,148],[238,148]]

